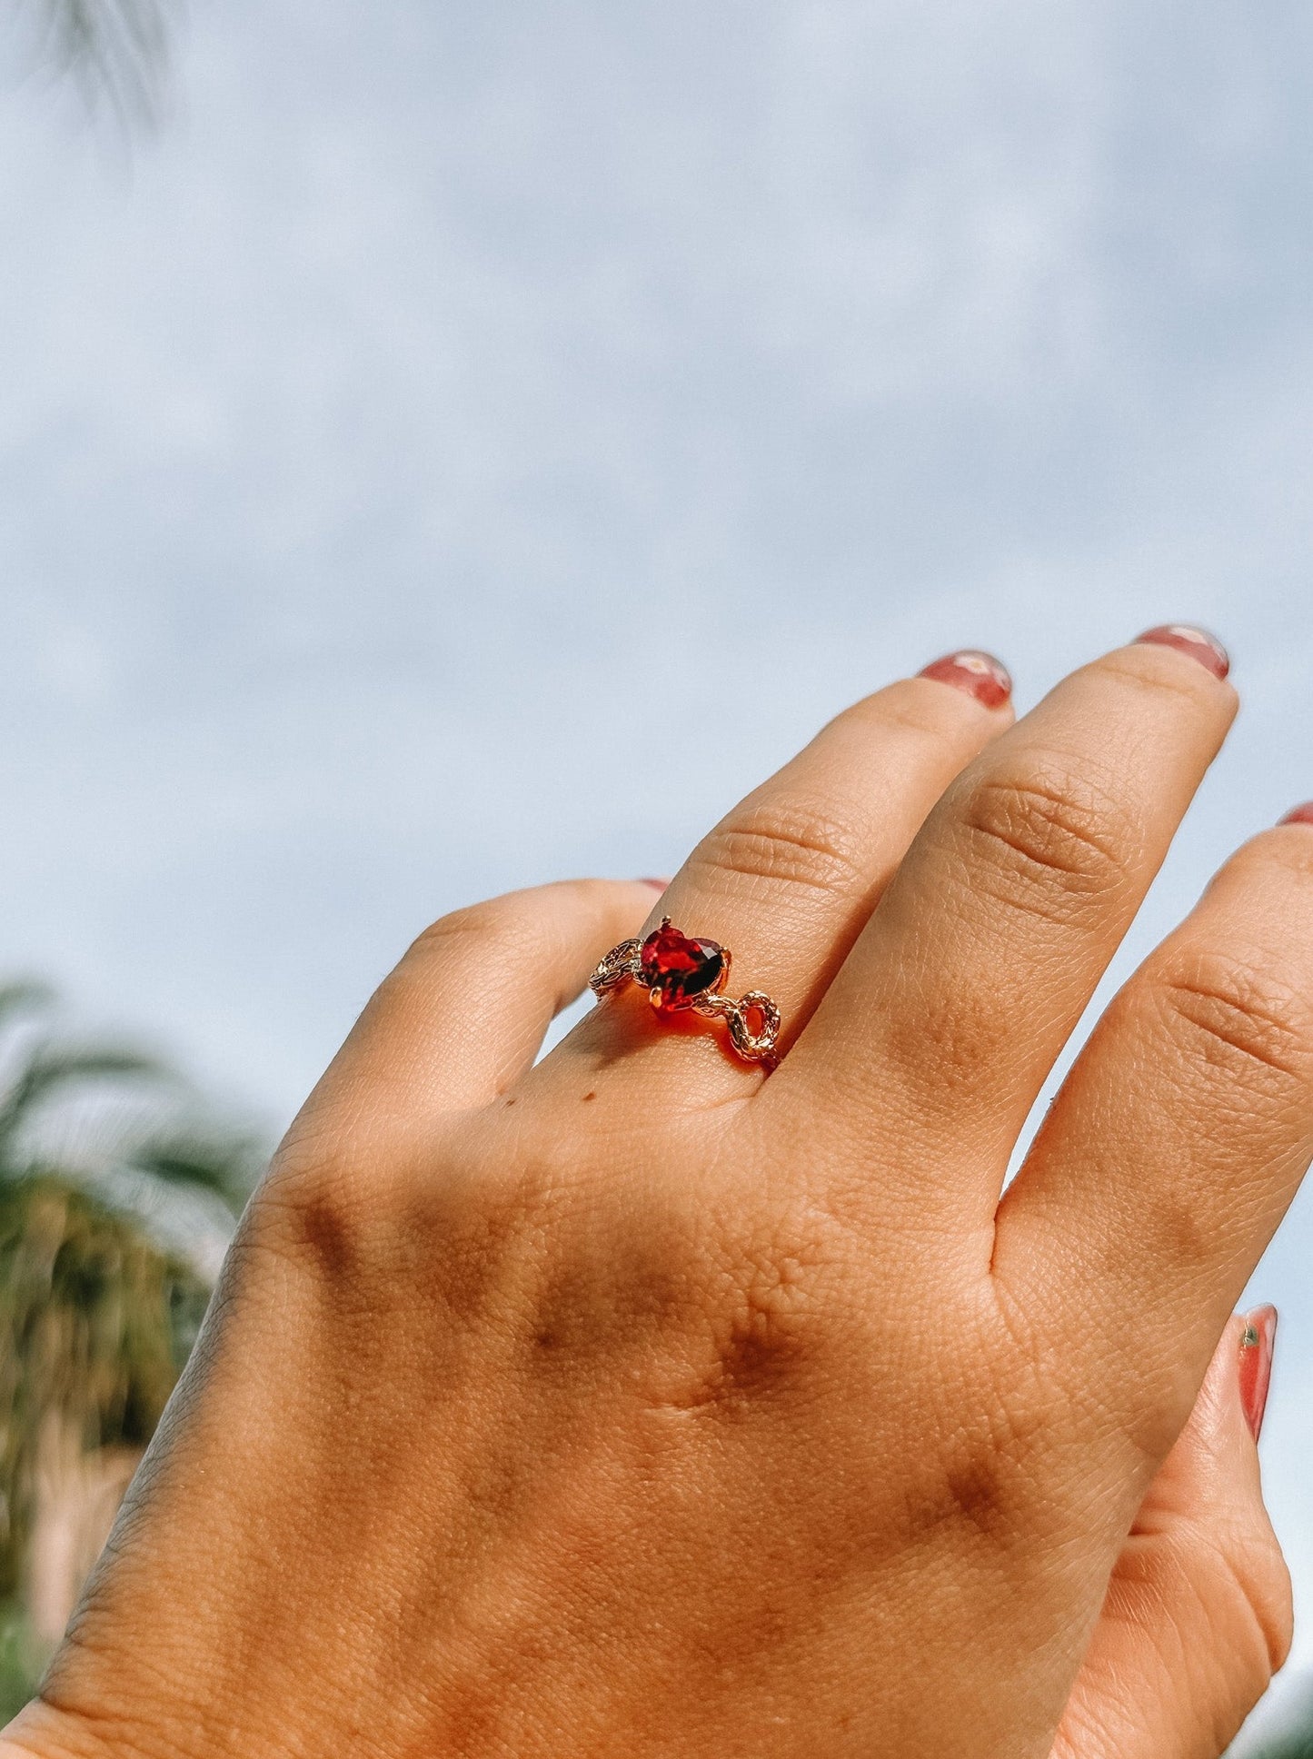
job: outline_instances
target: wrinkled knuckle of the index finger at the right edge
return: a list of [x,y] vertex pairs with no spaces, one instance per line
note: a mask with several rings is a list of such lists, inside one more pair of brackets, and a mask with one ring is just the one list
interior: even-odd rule
[[1265,955],[1179,953],[1156,973],[1153,997],[1176,1048],[1207,1077],[1274,1099],[1313,1084],[1313,1008]]

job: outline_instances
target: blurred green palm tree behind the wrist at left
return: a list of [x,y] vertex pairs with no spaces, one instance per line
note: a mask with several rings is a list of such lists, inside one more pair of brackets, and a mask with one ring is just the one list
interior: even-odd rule
[[[160,1420],[259,1164],[158,1061],[70,1043],[40,985],[0,987],[0,1604],[21,1604],[37,1650]],[[0,1618],[0,1697],[12,1673],[21,1701],[32,1659]]]

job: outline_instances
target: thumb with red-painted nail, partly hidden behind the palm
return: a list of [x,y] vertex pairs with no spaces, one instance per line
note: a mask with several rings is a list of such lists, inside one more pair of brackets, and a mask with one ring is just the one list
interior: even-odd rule
[[1273,1309],[1234,1317],[1112,1571],[1053,1759],[1218,1759],[1290,1648],[1262,1500]]

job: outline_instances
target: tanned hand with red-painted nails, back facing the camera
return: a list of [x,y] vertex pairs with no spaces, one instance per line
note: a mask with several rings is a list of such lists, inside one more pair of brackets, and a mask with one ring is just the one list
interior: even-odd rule
[[[1000,1201],[1236,698],[1181,631],[1016,726],[989,667],[931,670],[827,726],[655,909],[549,887],[419,939],[250,1207],[12,1743],[1109,1750],[1089,1704],[1142,1529],[1207,1481],[1216,1390],[1169,1453],[1313,1152],[1313,837],[1232,858]],[[634,989],[532,1066],[646,911],[776,997],[773,1075]],[[1251,1509],[1251,1451],[1218,1448]],[[1202,1620],[1244,1699],[1288,1641],[1280,1560],[1246,1557]],[[1137,1690],[1186,1676],[1158,1636]],[[1155,1759],[1246,1708],[1149,1717]]]

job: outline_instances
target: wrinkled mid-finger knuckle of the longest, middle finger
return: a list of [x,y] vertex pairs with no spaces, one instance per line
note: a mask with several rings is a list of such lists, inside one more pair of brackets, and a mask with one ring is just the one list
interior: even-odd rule
[[1068,769],[979,781],[961,821],[987,890],[1060,922],[1102,909],[1142,843],[1126,806]]

